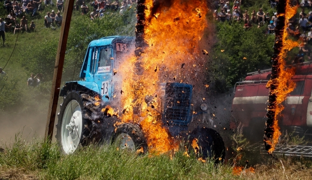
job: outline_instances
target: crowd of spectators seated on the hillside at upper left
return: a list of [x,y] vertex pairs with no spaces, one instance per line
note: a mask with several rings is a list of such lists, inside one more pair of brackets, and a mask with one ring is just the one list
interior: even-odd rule
[[[123,13],[134,2],[136,0],[91,0],[88,3],[85,0],[76,0],[73,8],[80,11],[82,15],[90,16],[90,19],[94,20],[103,17],[107,10]],[[63,17],[61,13],[64,11],[64,0],[4,0],[3,6],[7,13],[7,16],[2,18],[0,23],[0,37],[3,39],[3,44],[5,41],[4,32],[12,31],[15,34],[19,31],[34,31],[36,27],[34,21],[29,24],[26,17],[37,16],[38,13],[42,12],[43,6],[55,7],[57,11],[52,10],[51,13],[46,13],[44,27],[54,28],[54,26],[60,27],[62,24]],[[2,29],[4,29],[3,32]]]

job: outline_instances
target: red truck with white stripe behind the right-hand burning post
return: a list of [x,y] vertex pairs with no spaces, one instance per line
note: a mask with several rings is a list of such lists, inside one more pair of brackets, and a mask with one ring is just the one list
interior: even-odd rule
[[[281,132],[287,130],[299,135],[312,135],[312,64],[295,65],[292,80],[296,88],[283,102],[285,109],[279,119]],[[271,77],[271,69],[247,73],[245,81],[237,82],[234,87],[230,128],[241,122],[243,134],[251,141],[263,140],[266,108],[269,89],[266,84]]]

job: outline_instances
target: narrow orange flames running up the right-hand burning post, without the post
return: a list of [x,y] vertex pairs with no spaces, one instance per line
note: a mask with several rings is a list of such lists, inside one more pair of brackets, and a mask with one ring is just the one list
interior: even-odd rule
[[[298,9],[298,6],[290,6],[290,0],[286,1],[286,13],[285,14],[279,14],[278,16],[285,16],[285,27],[283,32],[283,47],[280,51],[280,54],[278,54],[278,66],[280,69],[280,73],[278,75],[278,78],[275,80],[271,80],[267,83],[266,87],[268,88],[270,84],[277,85],[277,88],[272,91],[272,94],[276,95],[276,106],[275,109],[275,116],[273,120],[273,136],[272,140],[267,140],[266,143],[271,145],[271,148],[268,150],[269,154],[272,154],[272,152],[275,149],[275,145],[278,143],[278,138],[280,137],[280,127],[278,126],[278,118],[280,116],[281,111],[283,111],[284,106],[281,104],[283,101],[285,101],[287,94],[292,92],[295,88],[295,82],[291,80],[291,77],[295,75],[295,68],[285,68],[286,62],[285,57],[287,55],[287,51],[291,50],[294,47],[297,47],[299,45],[298,42],[295,42],[293,40],[287,39],[288,32],[286,30],[286,27],[289,24],[289,19],[293,17]],[[271,110],[271,109],[268,109]]]

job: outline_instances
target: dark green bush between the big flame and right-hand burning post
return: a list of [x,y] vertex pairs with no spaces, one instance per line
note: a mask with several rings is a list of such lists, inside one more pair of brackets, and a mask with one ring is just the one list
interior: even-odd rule
[[271,67],[274,35],[266,34],[266,27],[244,30],[237,22],[217,23],[218,42],[212,57],[216,69],[217,88],[227,91],[246,73]]

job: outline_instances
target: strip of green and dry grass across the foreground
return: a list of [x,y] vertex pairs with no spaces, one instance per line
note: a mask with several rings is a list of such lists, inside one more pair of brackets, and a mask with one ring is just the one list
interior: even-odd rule
[[[234,175],[233,163],[203,163],[183,155],[183,149],[169,154],[138,155],[117,150],[115,146],[90,145],[74,154],[64,155],[56,143],[38,138],[26,142],[16,136],[2,145],[0,179],[310,179],[312,161],[281,157],[264,162]],[[257,154],[257,153],[255,153]],[[255,155],[253,154],[253,155]]]

